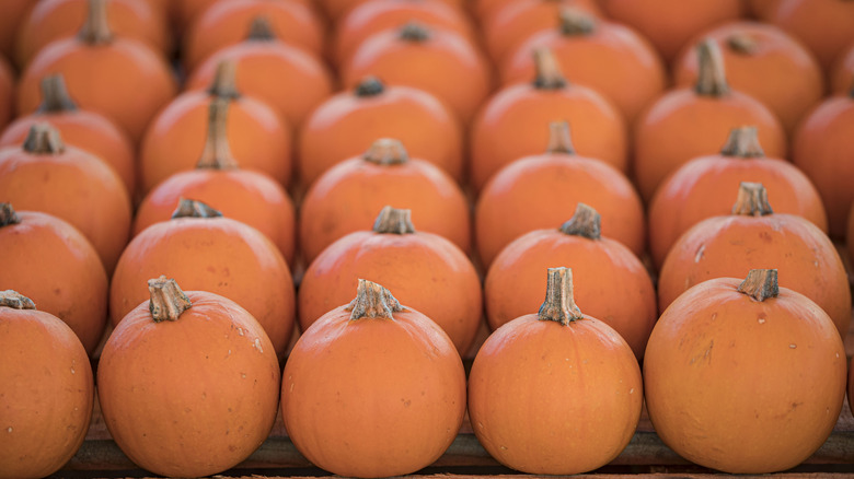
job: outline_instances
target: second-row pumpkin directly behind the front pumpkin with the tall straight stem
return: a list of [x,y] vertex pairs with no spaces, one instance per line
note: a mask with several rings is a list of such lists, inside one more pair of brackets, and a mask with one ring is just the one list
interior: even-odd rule
[[572,268],[576,302],[614,328],[643,359],[658,318],[653,280],[632,250],[602,236],[600,214],[582,202],[561,227],[519,236],[492,262],[484,281],[489,328],[534,311],[542,301],[538,279],[555,265]]

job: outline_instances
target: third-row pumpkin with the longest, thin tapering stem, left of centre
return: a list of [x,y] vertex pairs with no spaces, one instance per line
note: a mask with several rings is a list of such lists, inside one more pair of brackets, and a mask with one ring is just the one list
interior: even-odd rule
[[196,168],[175,173],[152,189],[139,205],[134,219],[134,235],[166,221],[181,198],[193,198],[264,233],[293,265],[296,211],[288,192],[262,172],[239,168],[231,154],[228,132],[229,102],[210,103],[205,150]]

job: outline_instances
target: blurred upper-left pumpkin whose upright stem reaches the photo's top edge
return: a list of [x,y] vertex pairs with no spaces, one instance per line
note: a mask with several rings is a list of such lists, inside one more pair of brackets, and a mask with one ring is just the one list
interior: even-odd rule
[[86,23],[76,37],[45,46],[27,65],[18,91],[18,110],[39,103],[43,78],[62,73],[71,97],[103,114],[138,142],[157,112],[175,95],[175,78],[163,57],[132,38],[113,35],[105,0],[89,0]]

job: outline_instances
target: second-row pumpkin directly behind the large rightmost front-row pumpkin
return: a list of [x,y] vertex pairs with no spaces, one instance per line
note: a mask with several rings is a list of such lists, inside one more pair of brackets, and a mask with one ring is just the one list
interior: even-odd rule
[[732,214],[696,223],[673,244],[658,277],[659,311],[694,284],[775,266],[780,283],[821,306],[842,338],[851,322],[851,291],[842,259],[809,221],[774,213],[761,184],[742,183]]

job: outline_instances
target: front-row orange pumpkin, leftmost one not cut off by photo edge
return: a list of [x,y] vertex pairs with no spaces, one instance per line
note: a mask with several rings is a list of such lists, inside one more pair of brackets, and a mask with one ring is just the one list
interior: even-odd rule
[[233,301],[148,282],[150,299],[109,335],[97,365],[101,412],[139,467],[201,477],[236,466],[269,435],[279,364],[261,325]]

